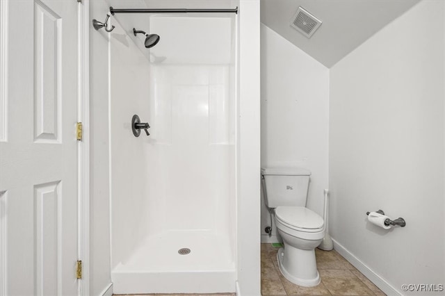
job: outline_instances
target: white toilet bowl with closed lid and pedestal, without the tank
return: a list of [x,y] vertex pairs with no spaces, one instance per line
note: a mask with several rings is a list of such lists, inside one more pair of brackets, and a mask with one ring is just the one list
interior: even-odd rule
[[303,206],[279,206],[275,208],[275,224],[284,242],[277,253],[280,272],[299,286],[317,286],[320,276],[315,248],[325,236],[323,218]]

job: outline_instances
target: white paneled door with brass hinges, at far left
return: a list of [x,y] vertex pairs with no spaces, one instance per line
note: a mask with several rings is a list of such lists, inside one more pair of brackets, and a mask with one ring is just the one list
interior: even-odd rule
[[0,0],[0,295],[76,295],[76,0]]

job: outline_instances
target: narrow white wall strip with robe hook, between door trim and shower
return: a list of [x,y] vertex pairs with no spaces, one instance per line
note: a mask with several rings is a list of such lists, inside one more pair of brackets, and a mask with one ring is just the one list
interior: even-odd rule
[[[90,1],[90,18],[103,21],[105,1]],[[90,24],[90,20],[88,20]],[[88,129],[88,127],[86,126]],[[90,26],[90,293],[111,283],[108,165],[108,33]]]

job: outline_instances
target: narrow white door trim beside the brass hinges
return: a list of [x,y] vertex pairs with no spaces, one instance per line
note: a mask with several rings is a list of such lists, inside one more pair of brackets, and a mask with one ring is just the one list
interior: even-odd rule
[[[74,1],[74,0],[73,0]],[[78,260],[82,261],[79,295],[90,295],[90,69],[89,0],[77,3],[78,97],[77,120],[82,122],[82,140],[78,141]]]

